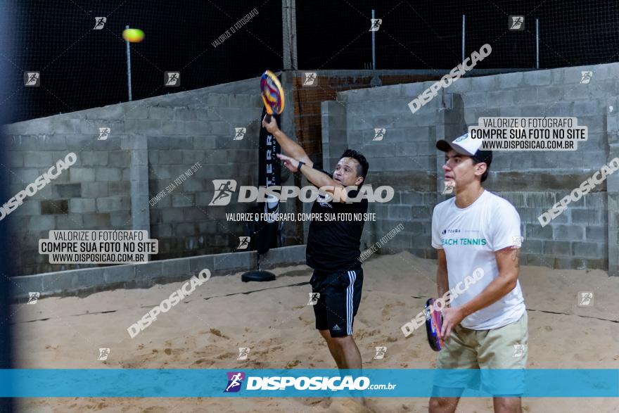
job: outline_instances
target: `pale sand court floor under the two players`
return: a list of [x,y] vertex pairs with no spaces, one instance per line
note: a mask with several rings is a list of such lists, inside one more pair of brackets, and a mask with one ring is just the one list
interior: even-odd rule
[[[436,262],[410,253],[364,262],[355,341],[367,369],[434,367],[423,329],[408,338],[400,326],[435,295]],[[13,306],[16,367],[22,369],[331,369],[307,305],[311,269],[274,269],[276,281],[242,283],[240,274],[211,277],[135,338],[127,327],[180,288],[115,290],[85,298],[44,298]],[[599,270],[521,266],[529,317],[532,369],[619,368],[619,279]],[[594,305],[577,306],[579,291]],[[387,348],[374,359],[375,348]],[[99,348],[110,348],[98,359]],[[237,360],[238,348],[249,348]],[[525,412],[616,412],[603,398],[525,398]],[[57,398],[20,400],[28,412],[427,412],[427,398],[371,398],[366,410],[343,398]],[[492,400],[463,398],[458,412],[485,412]]]

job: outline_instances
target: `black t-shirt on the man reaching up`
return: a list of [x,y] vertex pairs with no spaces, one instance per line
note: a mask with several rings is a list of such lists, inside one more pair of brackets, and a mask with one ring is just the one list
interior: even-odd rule
[[[317,169],[317,168],[314,168]],[[328,174],[324,170],[320,170]],[[328,174],[329,177],[332,175]],[[348,197],[355,198],[357,191],[349,191]],[[307,265],[324,272],[346,271],[361,266],[359,245],[365,220],[355,220],[354,214],[364,214],[368,209],[367,199],[359,202],[326,202],[319,196],[312,205],[312,214],[353,214],[352,220],[312,220],[307,235],[305,258]]]

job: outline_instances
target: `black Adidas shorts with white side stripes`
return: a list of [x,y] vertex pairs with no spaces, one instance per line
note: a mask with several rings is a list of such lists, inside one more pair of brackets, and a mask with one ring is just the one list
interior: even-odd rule
[[320,293],[314,304],[316,328],[330,331],[331,337],[352,336],[352,322],[361,302],[363,269],[314,271],[309,284],[312,293]]

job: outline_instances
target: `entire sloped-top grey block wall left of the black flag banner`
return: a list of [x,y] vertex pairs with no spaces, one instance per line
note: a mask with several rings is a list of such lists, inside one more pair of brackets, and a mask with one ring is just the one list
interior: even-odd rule
[[[245,229],[224,213],[247,204],[205,207],[212,179],[257,184],[261,108],[256,94],[191,91],[6,125],[12,194],[77,154],[75,165],[5,218],[18,274],[93,266],[50,265],[38,240],[51,229],[151,229],[160,240],[155,259],[234,250]],[[99,127],[110,127],[108,139],[98,140]],[[234,141],[235,127],[247,129],[243,140]],[[203,166],[151,208],[148,200],[196,162]]]

